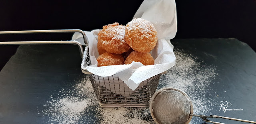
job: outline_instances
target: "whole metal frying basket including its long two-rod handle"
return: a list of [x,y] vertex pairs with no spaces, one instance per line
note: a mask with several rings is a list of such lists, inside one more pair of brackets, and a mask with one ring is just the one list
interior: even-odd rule
[[[21,44],[75,44],[78,45],[80,55],[83,58],[81,69],[88,74],[92,87],[101,107],[148,107],[151,96],[155,93],[161,74],[155,75],[142,81],[135,91],[132,91],[117,75],[101,77],[86,70],[91,65],[88,52],[88,39],[82,30],[30,30],[30,31],[0,31],[0,34],[23,34],[23,33],[82,33],[83,41],[12,41],[0,42],[0,45]],[[86,45],[83,51],[82,44]]]

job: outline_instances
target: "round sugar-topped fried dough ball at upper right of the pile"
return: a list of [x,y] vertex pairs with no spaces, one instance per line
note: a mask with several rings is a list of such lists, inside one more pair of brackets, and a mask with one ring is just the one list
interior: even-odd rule
[[126,25],[124,40],[135,51],[150,52],[156,46],[156,29],[149,21],[135,18]]

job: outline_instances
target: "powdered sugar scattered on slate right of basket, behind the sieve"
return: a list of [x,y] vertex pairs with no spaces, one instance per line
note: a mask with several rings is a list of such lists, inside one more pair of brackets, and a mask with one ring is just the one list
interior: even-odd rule
[[[208,114],[213,110],[209,85],[216,77],[213,65],[176,49],[176,64],[160,79],[159,87],[175,87],[184,91],[193,103],[194,114]],[[206,96],[207,95],[207,96]],[[194,124],[194,119],[190,124]],[[200,119],[200,118],[199,118]]]

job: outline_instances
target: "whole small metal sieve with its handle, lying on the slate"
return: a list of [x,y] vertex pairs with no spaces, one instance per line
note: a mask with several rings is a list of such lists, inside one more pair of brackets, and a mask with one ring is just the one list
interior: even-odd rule
[[162,88],[154,93],[150,101],[150,113],[157,124],[188,124],[192,116],[200,117],[203,121],[213,124],[224,123],[213,122],[207,118],[223,118],[256,124],[253,121],[236,118],[193,114],[193,104],[188,95],[184,91],[172,87]]

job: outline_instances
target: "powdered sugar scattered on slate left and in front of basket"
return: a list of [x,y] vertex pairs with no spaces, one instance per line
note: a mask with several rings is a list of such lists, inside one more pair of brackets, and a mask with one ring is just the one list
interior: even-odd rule
[[[92,84],[83,77],[69,96],[52,98],[43,111],[49,117],[49,124],[152,124],[148,108],[101,108]],[[60,91],[60,94],[65,94]]]

